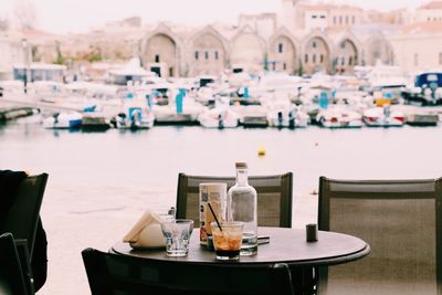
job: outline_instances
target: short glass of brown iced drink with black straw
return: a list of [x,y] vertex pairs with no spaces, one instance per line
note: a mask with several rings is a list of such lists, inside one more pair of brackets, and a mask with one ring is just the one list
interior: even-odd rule
[[244,222],[224,221],[212,222],[212,239],[217,260],[239,260],[242,245]]

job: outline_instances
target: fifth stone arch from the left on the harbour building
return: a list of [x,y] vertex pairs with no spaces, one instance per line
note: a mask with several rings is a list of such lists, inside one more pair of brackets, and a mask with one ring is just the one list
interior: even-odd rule
[[306,74],[329,72],[330,51],[326,41],[320,36],[311,38],[304,46],[303,71]]

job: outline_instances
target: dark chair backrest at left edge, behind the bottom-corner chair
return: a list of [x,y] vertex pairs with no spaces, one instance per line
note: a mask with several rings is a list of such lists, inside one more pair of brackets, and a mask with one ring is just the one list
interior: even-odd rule
[[0,233],[10,232],[15,239],[27,239],[32,256],[40,207],[46,187],[48,175],[27,177],[20,185],[17,198],[0,224]]

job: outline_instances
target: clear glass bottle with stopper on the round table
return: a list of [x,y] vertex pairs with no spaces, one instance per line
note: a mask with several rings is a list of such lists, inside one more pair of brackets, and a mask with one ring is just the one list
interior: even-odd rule
[[228,220],[244,222],[241,255],[257,252],[256,190],[249,186],[248,165],[236,162],[236,183],[228,191]]

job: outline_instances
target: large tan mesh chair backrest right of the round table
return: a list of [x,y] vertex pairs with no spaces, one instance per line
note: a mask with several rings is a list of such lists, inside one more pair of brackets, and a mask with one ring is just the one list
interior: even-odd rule
[[319,294],[442,294],[442,180],[319,179],[320,230],[359,236],[364,260],[322,268]]

